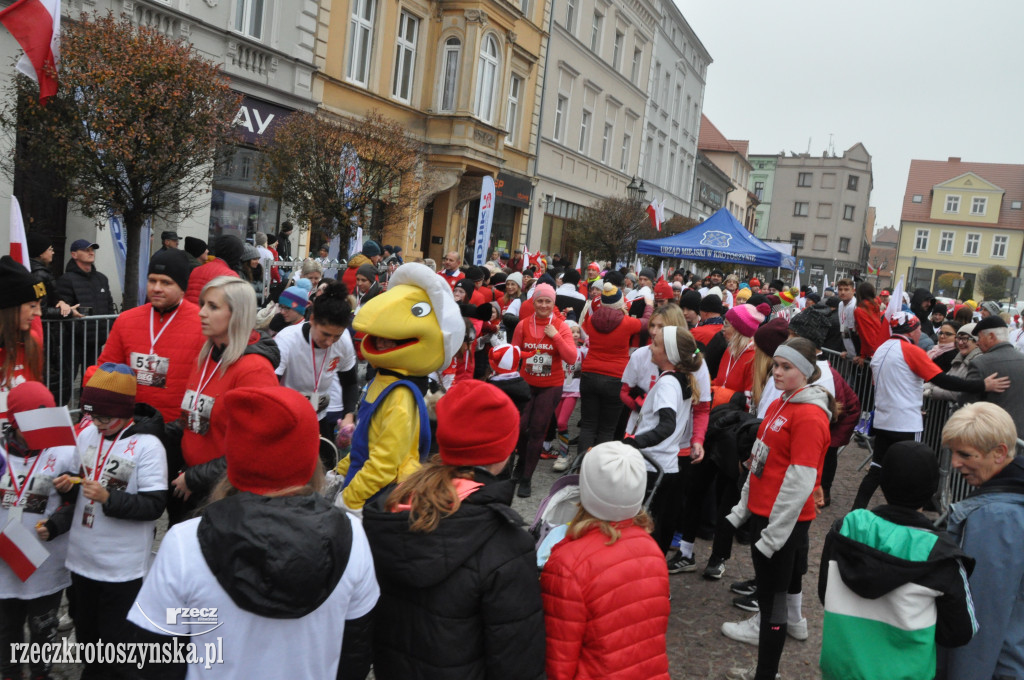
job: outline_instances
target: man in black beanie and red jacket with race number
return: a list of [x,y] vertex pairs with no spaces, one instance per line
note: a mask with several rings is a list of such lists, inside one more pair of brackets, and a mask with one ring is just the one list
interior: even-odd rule
[[184,251],[158,251],[146,278],[150,302],[118,316],[96,359],[97,366],[131,367],[138,381],[136,399],[159,411],[165,423],[181,415],[185,382],[205,340],[199,307],[184,299],[190,271]]

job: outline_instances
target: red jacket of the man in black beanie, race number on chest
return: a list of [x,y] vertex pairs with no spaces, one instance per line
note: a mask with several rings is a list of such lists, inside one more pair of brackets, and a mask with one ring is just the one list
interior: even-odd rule
[[[181,415],[185,382],[196,368],[196,357],[206,341],[200,326],[199,307],[188,300],[181,300],[177,310],[169,314],[154,313],[152,304],[121,312],[111,328],[111,334],[96,364],[125,364],[133,371],[143,368],[141,364],[132,360],[132,353],[139,355],[136,357],[139,362],[142,360],[141,356],[150,353],[151,317],[153,334],[160,336],[152,347],[153,353],[168,359],[167,384],[164,387],[153,387],[140,382],[135,398],[159,411],[165,423],[171,423]],[[163,330],[165,327],[166,331]]]

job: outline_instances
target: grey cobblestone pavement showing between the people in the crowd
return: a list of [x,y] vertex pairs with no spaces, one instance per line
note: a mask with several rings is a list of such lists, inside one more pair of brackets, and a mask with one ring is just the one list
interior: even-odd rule
[[[573,417],[572,421],[575,420]],[[853,503],[862,476],[856,468],[865,456],[865,451],[854,447],[843,452],[833,486],[831,506],[825,508],[811,523],[810,563],[807,576],[804,577],[804,615],[807,618],[810,637],[803,642],[786,639],[780,668],[784,680],[816,680],[821,677],[818,672],[818,653],[821,649],[822,607],[817,597],[821,545],[831,522],[848,511]],[[552,464],[553,461],[542,461],[535,473],[532,497],[517,498],[513,503],[513,507],[527,523],[532,521],[547,490],[558,476],[551,471]],[[880,498],[881,494],[876,497],[876,502]],[[164,520],[161,520],[158,538],[163,536],[165,527]],[[721,633],[724,622],[740,621],[751,615],[750,612],[732,606],[734,596],[729,591],[731,582],[754,577],[750,550],[749,546],[737,545],[732,559],[726,564],[725,577],[718,582],[705,581],[700,571],[711,553],[711,543],[698,540],[695,548],[697,571],[670,577],[672,615],[669,620],[668,647],[670,671],[675,680],[722,678],[729,669],[750,666],[757,661],[756,647],[730,640]],[[70,631],[62,633],[69,634]],[[60,666],[54,669],[53,678],[78,680],[80,673],[74,666]]]

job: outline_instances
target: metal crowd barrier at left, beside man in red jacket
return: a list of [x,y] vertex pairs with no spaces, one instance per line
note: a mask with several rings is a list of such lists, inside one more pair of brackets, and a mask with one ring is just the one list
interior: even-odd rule
[[96,363],[117,314],[43,320],[43,375],[56,402],[79,411],[85,369]]

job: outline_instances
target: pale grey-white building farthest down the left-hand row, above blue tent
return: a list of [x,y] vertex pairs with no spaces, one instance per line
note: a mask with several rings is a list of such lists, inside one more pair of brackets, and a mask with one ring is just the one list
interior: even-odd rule
[[692,212],[700,112],[711,55],[674,2],[662,3],[644,117],[640,178],[665,218]]

